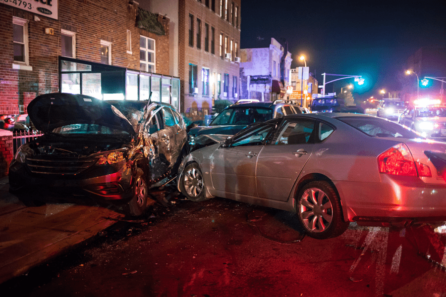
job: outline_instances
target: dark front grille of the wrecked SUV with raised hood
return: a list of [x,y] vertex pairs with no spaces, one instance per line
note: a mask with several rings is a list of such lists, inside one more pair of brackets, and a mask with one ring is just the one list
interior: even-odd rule
[[26,165],[32,173],[37,174],[79,174],[96,162],[96,158],[39,158],[26,159]]

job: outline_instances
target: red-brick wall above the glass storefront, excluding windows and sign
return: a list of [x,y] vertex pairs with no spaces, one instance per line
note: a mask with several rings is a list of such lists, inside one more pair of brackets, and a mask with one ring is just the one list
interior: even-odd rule
[[[139,71],[139,35],[136,4],[128,0],[59,0],[59,19],[54,20],[0,3],[0,114],[19,114],[36,96],[58,92],[58,56],[61,55],[61,29],[76,33],[76,56],[80,60],[101,62],[101,40],[111,42],[111,65]],[[29,21],[29,65],[32,70],[13,69],[12,18]],[[167,35],[141,30],[156,40],[157,73],[169,74],[168,18],[159,16]],[[54,35],[45,34],[54,29]],[[132,36],[127,53],[127,30]],[[144,33],[143,33],[144,31]]]

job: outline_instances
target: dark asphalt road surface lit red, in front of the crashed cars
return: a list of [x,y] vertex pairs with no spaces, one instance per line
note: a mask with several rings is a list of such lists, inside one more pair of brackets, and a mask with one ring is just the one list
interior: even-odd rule
[[[122,218],[26,275],[5,296],[446,296],[445,235],[350,224],[304,237],[286,211],[174,197]],[[8,295],[9,294],[9,295]]]

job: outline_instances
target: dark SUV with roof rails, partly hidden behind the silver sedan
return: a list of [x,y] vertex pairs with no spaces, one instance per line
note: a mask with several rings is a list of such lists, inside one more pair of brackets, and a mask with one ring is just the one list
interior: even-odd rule
[[252,123],[296,113],[302,113],[299,106],[285,100],[233,104],[223,109],[209,126],[191,128],[189,144],[191,150],[203,148],[225,140]]

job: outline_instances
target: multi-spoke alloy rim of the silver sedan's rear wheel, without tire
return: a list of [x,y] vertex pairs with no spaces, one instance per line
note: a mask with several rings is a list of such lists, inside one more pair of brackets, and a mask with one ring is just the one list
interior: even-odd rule
[[323,232],[332,223],[332,202],[321,189],[307,189],[300,200],[299,215],[305,228],[313,232]]

